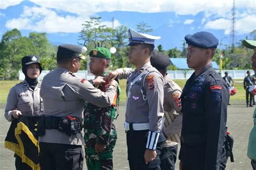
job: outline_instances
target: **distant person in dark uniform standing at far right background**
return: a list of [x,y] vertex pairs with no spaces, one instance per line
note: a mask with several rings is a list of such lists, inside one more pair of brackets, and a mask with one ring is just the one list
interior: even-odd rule
[[[249,103],[250,103],[250,107],[253,107],[252,105],[253,94],[251,94],[249,91],[249,88],[253,85],[253,77],[251,76],[250,70],[247,70],[246,74],[247,76],[244,78],[244,89],[246,91],[246,107],[248,107]],[[250,96],[250,100],[249,100],[249,96]]]

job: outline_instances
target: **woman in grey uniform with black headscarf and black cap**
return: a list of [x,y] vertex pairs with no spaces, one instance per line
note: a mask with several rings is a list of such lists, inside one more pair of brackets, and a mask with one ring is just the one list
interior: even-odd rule
[[[42,115],[43,100],[39,95],[41,82],[38,81],[42,66],[39,60],[39,56],[36,55],[27,55],[22,58],[22,72],[25,80],[10,89],[4,114],[7,121],[17,119],[19,115]],[[17,154],[14,156],[16,169],[31,169]]]

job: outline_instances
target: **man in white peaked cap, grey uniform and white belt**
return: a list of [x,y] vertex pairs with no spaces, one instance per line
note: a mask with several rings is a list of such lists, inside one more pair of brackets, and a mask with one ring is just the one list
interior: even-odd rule
[[127,79],[125,130],[130,169],[160,169],[163,126],[163,76],[150,63],[154,37],[129,29],[129,62],[136,70],[117,69],[106,75]]

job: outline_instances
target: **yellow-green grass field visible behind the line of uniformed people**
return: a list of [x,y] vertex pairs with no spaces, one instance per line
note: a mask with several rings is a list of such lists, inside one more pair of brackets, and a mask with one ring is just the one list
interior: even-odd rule
[[[174,80],[181,88],[184,87],[186,80]],[[242,84],[242,80],[234,80],[235,81],[235,88],[237,88],[238,93],[235,94],[234,96],[230,97],[230,100],[245,100],[245,90]],[[17,84],[18,80],[14,81],[0,81],[0,103],[6,103],[6,99],[9,93],[9,90],[11,87],[15,86]],[[120,87],[122,89],[122,94],[120,96],[120,101],[125,101],[126,100],[126,94],[125,94],[125,87],[126,87],[126,80],[120,80]]]

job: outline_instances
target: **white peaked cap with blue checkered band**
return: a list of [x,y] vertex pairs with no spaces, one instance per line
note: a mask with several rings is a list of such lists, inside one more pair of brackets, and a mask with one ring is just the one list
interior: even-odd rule
[[139,33],[133,29],[128,30],[128,36],[129,36],[129,44],[128,45],[131,45],[132,43],[154,45],[154,40],[158,40],[161,38],[159,36],[151,36],[149,34]]

